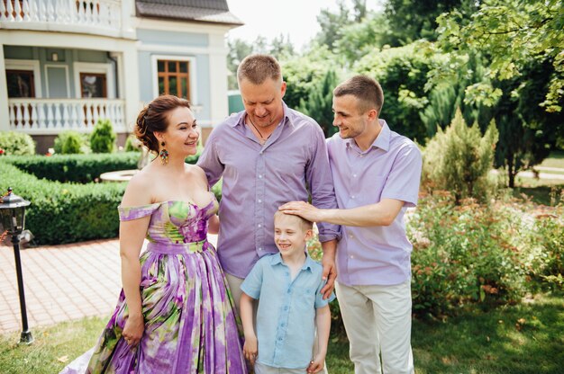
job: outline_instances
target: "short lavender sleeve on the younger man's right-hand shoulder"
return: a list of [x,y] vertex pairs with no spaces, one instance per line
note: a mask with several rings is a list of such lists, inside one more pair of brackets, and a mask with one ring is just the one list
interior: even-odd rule
[[423,159],[419,148],[411,142],[406,144],[394,160],[380,200],[402,200],[405,201],[405,207],[416,206],[422,165]]

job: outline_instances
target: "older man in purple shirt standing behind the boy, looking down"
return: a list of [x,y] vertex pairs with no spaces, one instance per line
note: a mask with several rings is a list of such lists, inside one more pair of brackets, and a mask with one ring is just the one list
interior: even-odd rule
[[[252,55],[237,70],[244,111],[210,134],[197,165],[214,185],[223,176],[217,252],[239,310],[241,283],[260,257],[277,253],[274,213],[290,200],[337,207],[323,130],[282,101],[286,82],[276,58]],[[339,227],[319,225],[323,246],[322,289],[329,298],[336,278]]]

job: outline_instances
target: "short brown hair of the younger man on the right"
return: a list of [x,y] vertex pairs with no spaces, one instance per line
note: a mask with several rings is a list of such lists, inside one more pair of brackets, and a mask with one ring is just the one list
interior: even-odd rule
[[378,116],[384,104],[382,87],[369,76],[353,76],[333,90],[333,96],[340,97],[351,94],[359,100],[359,111],[364,113],[376,109]]

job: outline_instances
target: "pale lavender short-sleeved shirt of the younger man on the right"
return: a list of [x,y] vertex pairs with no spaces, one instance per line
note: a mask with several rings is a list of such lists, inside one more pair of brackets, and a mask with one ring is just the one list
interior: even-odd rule
[[417,204],[422,157],[408,138],[391,131],[385,120],[368,150],[337,133],[327,140],[332,178],[340,209],[405,201],[388,227],[341,227],[337,280],[348,286],[393,285],[411,276],[412,245],[405,236],[405,210]]

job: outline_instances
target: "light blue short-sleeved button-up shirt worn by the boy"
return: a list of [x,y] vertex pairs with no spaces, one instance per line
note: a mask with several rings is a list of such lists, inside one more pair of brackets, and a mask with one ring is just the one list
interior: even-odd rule
[[291,280],[290,269],[278,254],[265,255],[255,263],[241,290],[258,298],[257,361],[277,368],[302,369],[312,360],[315,309],[323,300],[323,266],[306,254],[304,266]]

